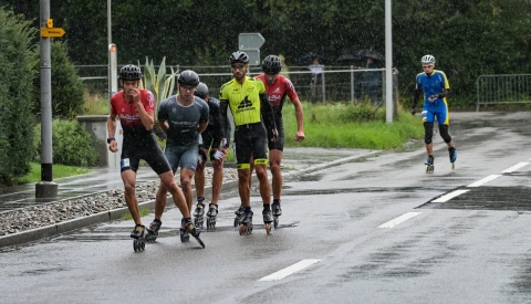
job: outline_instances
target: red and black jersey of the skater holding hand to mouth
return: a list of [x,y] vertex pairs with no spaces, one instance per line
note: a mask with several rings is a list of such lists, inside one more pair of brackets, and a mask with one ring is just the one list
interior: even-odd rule
[[[148,90],[140,88],[140,102],[147,113],[155,112],[155,96]],[[135,103],[125,99],[124,91],[119,91],[111,98],[111,114],[119,117],[119,123],[126,137],[150,137],[152,130],[147,130],[142,124],[140,115]]]

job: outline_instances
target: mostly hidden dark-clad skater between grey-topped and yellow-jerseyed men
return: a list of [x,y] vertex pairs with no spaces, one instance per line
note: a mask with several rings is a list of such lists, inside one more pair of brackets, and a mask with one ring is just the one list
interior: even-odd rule
[[218,199],[221,192],[223,182],[223,160],[230,141],[230,122],[227,118],[227,129],[220,127],[219,124],[219,101],[208,95],[208,86],[200,82],[195,93],[199,98],[205,99],[209,107],[208,126],[201,133],[202,144],[199,145],[200,158],[197,163],[196,175],[194,176],[196,182],[197,208],[194,212],[196,218],[196,226],[200,226],[204,221],[205,214],[205,165],[207,163],[207,155],[212,161],[212,200],[208,206],[207,212],[207,229],[216,227],[216,216],[218,214]]

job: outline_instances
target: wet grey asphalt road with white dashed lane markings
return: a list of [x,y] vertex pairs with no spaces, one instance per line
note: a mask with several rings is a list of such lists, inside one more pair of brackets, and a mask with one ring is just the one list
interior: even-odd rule
[[131,221],[2,249],[0,303],[530,303],[530,118],[452,114],[454,171],[438,135],[433,175],[420,141],[292,170],[271,235],[254,187],[253,233],[238,235],[223,191],[206,249],[180,243],[176,209],[140,253]]

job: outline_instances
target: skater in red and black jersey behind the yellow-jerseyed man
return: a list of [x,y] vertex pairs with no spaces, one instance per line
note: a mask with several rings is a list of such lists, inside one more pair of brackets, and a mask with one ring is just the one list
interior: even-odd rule
[[[302,104],[299,99],[299,95],[295,92],[293,83],[287,77],[279,75],[280,70],[282,69],[282,62],[277,55],[269,55],[262,61],[262,71],[263,73],[256,78],[261,80],[266,85],[266,92],[269,97],[269,103],[273,108],[274,123],[277,125],[277,130],[279,136],[275,141],[268,138],[269,147],[269,168],[273,177],[272,188],[273,188],[273,203],[271,206],[273,217],[279,217],[282,214],[282,209],[280,208],[280,195],[282,191],[282,171],[280,169],[280,163],[282,160],[283,149],[284,149],[284,124],[282,120],[282,106],[284,105],[285,97],[288,96],[295,107],[295,118],[296,118],[296,133],[295,141],[304,140],[304,129],[303,129],[303,111]],[[251,161],[251,171],[252,171],[252,161]]]

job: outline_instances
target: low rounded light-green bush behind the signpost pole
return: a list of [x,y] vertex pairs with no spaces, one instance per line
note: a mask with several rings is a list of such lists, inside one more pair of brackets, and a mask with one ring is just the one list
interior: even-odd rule
[[[35,126],[33,148],[35,160],[39,161],[41,155],[41,125]],[[77,120],[53,120],[52,153],[53,164],[92,167],[98,160],[91,135]]]

